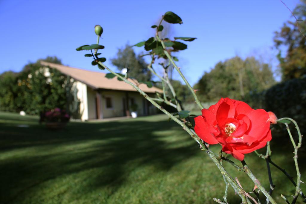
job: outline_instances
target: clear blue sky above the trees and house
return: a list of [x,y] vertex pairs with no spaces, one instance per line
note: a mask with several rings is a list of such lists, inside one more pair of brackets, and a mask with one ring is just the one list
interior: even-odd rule
[[[290,9],[299,3],[283,1]],[[48,55],[59,57],[65,65],[98,70],[91,66],[90,58],[84,57],[86,51],[75,50],[96,43],[96,24],[104,29],[101,56],[108,59],[106,66],[113,67],[110,59],[118,48],[153,36],[151,25],[169,10],[183,20],[182,25],[173,26],[174,36],[198,38],[188,42],[188,49],[178,55],[178,65],[191,84],[217,62],[235,55],[261,55],[275,68],[273,32],[291,16],[279,0],[0,0],[0,73],[20,71],[28,62]]]

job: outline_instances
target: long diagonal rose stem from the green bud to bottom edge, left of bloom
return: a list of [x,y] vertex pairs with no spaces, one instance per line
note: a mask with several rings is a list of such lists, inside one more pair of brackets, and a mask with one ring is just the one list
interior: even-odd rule
[[121,75],[115,73],[114,71],[110,70],[107,66],[105,66],[102,62],[98,62],[99,65],[101,65],[106,70],[110,71],[115,76],[119,77],[125,83],[131,85],[134,89],[136,89],[141,95],[144,96],[145,99],[151,102],[156,108],[164,112],[166,115],[168,115],[172,120],[174,120],[176,123],[178,123],[196,142],[200,142],[202,146],[202,150],[205,151],[208,156],[211,158],[211,160],[217,165],[218,169],[220,170],[222,176],[226,178],[226,180],[230,183],[230,185],[233,187],[233,189],[238,193],[240,196],[242,203],[247,203],[247,198],[245,196],[245,191],[235,182],[235,180],[226,172],[226,170],[223,168],[223,166],[218,161],[218,155],[216,153],[211,152],[210,149],[207,148],[205,144],[203,144],[201,138],[199,138],[196,134],[194,134],[186,125],[185,123],[181,122],[179,119],[174,117],[171,113],[166,111],[164,108],[162,108],[159,104],[157,104],[154,100],[152,100],[144,91],[142,91],[139,87],[137,87],[135,84],[127,80],[126,78],[122,77]]

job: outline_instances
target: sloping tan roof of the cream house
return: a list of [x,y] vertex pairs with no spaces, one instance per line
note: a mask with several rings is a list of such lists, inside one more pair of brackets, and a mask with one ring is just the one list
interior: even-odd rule
[[[40,61],[40,64],[43,66],[49,66],[50,68],[57,69],[63,74],[68,75],[74,78],[75,80],[80,81],[90,86],[93,89],[137,91],[131,85],[125,83],[124,81],[118,81],[117,77],[114,77],[112,79],[106,78],[105,77],[106,74],[102,72],[82,70],[79,68],[64,66],[60,64],[54,64],[50,62],[43,62],[43,61]],[[128,80],[135,84],[133,80],[131,79],[128,79]],[[145,84],[140,84],[139,88],[146,93],[162,92],[161,89],[158,89],[154,86],[151,88],[148,88],[147,85]]]

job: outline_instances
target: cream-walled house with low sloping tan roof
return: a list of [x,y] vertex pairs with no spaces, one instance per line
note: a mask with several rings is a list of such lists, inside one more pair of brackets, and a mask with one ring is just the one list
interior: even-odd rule
[[[155,114],[157,109],[132,86],[117,77],[108,79],[105,73],[82,70],[69,66],[40,62],[43,66],[54,68],[74,80],[73,86],[77,89],[77,98],[80,100],[80,114],[82,121],[89,119],[104,119],[130,115],[130,105],[137,104],[138,115]],[[131,79],[129,81],[133,82]],[[149,96],[155,92],[162,93],[156,87],[148,88],[140,84]]]

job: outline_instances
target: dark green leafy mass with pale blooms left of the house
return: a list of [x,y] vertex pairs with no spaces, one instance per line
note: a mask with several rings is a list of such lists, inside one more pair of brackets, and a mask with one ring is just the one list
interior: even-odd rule
[[0,75],[0,109],[4,111],[25,111],[38,115],[54,108],[65,109],[76,117],[75,91],[70,78],[56,69],[43,67],[39,61],[61,63],[57,57],[39,59],[28,63],[21,72],[6,72]]

